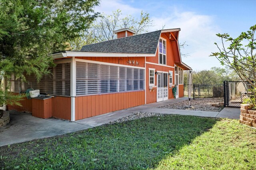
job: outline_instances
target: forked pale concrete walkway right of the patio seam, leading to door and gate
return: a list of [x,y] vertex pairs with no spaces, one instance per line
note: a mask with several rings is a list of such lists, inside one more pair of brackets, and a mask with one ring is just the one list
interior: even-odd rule
[[152,113],[164,113],[164,114],[173,114],[173,115],[193,115],[193,116],[202,116],[202,117],[218,117],[218,118],[230,118],[230,119],[240,118],[240,108],[235,108],[235,107],[234,108],[225,107],[220,112],[156,108],[160,106],[166,106],[168,104],[178,103],[184,100],[188,100],[188,98],[183,97],[178,99],[170,99],[170,100],[166,100],[158,103],[136,106],[128,109],[106,113],[103,115],[89,117],[89,118],[78,120],[75,122],[80,123],[82,125],[96,127],[96,126],[104,125],[110,121],[115,121],[122,117],[132,115],[133,113],[137,113],[137,112],[152,112]]

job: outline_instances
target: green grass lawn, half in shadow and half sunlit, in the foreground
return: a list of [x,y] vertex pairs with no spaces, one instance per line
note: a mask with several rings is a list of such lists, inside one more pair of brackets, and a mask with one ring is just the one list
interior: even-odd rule
[[231,119],[148,117],[0,147],[0,167],[256,169],[256,130]]

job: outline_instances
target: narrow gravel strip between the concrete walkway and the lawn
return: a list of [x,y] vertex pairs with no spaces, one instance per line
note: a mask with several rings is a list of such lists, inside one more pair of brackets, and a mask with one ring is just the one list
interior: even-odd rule
[[[121,119],[115,120],[115,121],[111,121],[107,124],[113,124],[113,123],[121,123],[121,122],[125,122],[125,121],[130,121],[130,120],[135,120],[135,119],[140,119],[143,117],[151,117],[151,116],[159,116],[162,117],[166,114],[162,114],[162,113],[150,113],[150,112],[138,112],[138,113],[134,113],[130,116],[127,117],[123,117]],[[160,118],[158,118],[160,119]]]

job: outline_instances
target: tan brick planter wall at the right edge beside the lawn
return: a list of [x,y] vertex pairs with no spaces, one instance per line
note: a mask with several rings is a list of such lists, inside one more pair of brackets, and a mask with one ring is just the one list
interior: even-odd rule
[[240,123],[256,128],[256,109],[250,104],[241,104]]

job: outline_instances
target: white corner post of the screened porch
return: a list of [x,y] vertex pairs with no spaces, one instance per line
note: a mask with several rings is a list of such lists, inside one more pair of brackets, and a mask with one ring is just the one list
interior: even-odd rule
[[71,121],[75,121],[75,98],[76,96],[76,60],[75,57],[71,57],[70,63],[70,96],[71,97]]

